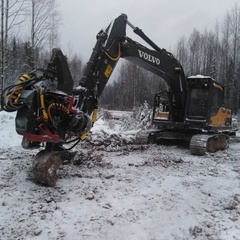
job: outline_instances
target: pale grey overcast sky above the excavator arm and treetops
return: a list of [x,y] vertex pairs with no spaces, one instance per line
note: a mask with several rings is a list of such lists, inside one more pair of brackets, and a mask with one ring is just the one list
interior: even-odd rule
[[[203,31],[220,24],[240,0],[59,0],[62,15],[61,48],[68,56],[81,54],[87,61],[96,34],[121,13],[160,48],[173,49],[194,28]],[[129,28],[127,35],[139,38]],[[141,41],[139,41],[141,42]],[[147,45],[146,45],[147,46]]]

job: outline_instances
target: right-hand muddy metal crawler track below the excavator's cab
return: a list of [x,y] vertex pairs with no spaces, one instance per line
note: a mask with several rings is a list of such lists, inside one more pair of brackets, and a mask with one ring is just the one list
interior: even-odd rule
[[226,134],[196,134],[190,141],[190,152],[193,155],[204,155],[229,147],[229,136]]

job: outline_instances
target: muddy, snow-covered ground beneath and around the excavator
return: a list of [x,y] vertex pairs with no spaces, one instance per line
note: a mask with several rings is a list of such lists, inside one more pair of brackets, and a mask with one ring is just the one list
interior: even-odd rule
[[57,185],[44,187],[32,181],[37,151],[21,148],[14,117],[0,112],[1,240],[240,239],[240,142],[197,157],[126,144],[134,131],[99,119]]

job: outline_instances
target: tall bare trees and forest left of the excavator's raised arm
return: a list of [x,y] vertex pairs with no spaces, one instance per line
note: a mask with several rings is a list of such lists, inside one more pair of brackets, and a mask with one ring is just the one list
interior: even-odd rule
[[[16,83],[35,68],[44,68],[52,49],[59,47],[59,0],[1,0],[0,89]],[[69,58],[72,75],[79,81],[83,63]]]

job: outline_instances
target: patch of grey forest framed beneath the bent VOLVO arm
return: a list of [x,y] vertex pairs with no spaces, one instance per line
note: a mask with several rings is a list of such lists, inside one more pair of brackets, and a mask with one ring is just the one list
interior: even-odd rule
[[164,90],[165,86],[165,82],[156,74],[124,61],[116,81],[104,89],[100,104],[118,110],[132,110],[144,102],[153,105],[154,94]]

